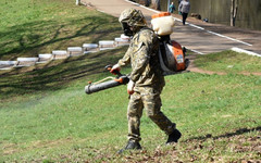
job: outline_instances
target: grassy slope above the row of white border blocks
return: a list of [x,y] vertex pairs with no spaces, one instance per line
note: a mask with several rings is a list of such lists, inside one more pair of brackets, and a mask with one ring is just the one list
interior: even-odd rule
[[120,36],[116,18],[75,0],[1,0],[0,60],[98,43]]

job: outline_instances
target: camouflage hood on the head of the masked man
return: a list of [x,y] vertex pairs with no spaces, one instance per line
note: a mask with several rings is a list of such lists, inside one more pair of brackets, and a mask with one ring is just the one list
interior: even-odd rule
[[146,20],[140,10],[136,9],[126,9],[124,10],[120,17],[120,23],[127,23],[129,26],[146,26]]

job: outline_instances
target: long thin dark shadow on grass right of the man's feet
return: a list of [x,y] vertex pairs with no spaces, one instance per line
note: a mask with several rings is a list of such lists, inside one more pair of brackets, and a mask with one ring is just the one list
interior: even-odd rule
[[240,129],[237,129],[236,131],[233,131],[233,133],[226,133],[224,135],[220,135],[220,136],[215,136],[215,137],[212,137],[211,134],[208,134],[206,136],[200,136],[200,137],[192,137],[190,139],[187,139],[186,141],[191,141],[191,140],[207,140],[209,138],[211,139],[220,139],[220,138],[229,138],[229,137],[234,137],[234,136],[238,136],[238,135],[243,135],[243,134],[246,134],[246,133],[251,133],[251,131],[261,131],[261,126],[258,126],[258,127],[254,127],[254,128],[240,128]]

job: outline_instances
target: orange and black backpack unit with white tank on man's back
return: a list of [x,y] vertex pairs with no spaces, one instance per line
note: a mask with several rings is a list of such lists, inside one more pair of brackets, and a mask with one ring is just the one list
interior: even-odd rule
[[165,73],[185,71],[188,66],[188,59],[185,59],[186,49],[171,40],[170,35],[173,33],[175,25],[174,18],[169,12],[161,12],[151,16],[151,25],[154,33],[160,39],[160,62],[161,68]]

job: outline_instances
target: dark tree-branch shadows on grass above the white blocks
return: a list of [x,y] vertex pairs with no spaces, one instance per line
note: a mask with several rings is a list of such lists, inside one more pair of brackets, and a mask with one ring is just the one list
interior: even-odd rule
[[62,22],[25,23],[0,32],[0,59],[14,60],[21,55],[48,53],[55,48],[82,46],[85,41],[98,42],[101,38],[115,35],[120,30],[116,18],[110,16],[82,16]]

